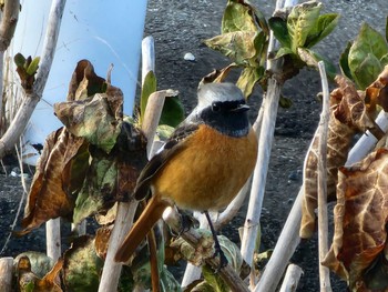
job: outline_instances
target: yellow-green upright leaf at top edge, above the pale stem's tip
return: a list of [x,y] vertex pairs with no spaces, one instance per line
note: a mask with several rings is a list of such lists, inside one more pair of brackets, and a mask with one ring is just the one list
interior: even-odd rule
[[296,53],[297,48],[305,47],[310,31],[316,26],[321,9],[320,2],[305,2],[295,6],[287,18],[287,29],[292,40],[292,50]]

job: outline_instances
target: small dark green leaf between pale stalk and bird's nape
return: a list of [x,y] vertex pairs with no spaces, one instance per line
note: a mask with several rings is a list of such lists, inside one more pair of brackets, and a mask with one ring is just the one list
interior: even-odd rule
[[163,111],[160,124],[167,124],[171,127],[178,125],[185,118],[183,104],[178,97],[166,97],[163,105]]

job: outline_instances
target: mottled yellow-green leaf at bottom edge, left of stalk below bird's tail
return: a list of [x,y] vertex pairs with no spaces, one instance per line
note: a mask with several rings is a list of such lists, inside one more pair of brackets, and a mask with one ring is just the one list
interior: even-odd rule
[[102,266],[103,261],[94,251],[94,240],[86,235],[76,239],[64,253],[65,291],[98,291]]

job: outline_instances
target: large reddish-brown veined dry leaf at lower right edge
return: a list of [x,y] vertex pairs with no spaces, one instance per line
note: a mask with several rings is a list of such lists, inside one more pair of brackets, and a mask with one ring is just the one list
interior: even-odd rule
[[323,264],[347,280],[354,291],[364,285],[364,272],[386,245],[387,173],[386,149],[350,168],[340,168],[334,242]]

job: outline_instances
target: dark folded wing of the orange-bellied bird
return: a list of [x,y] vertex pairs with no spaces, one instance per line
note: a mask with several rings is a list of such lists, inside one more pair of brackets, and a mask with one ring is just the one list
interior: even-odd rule
[[155,154],[149,163],[144,167],[139,175],[136,187],[133,191],[136,200],[143,200],[150,192],[150,184],[152,178],[163,168],[180,149],[184,147],[184,140],[193,134],[198,129],[198,124],[183,123],[175,129],[167,142],[164,144],[162,151]]

